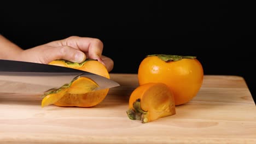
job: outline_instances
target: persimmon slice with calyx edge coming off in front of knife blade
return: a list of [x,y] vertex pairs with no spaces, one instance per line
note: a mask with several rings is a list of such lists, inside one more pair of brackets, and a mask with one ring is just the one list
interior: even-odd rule
[[75,77],[69,84],[63,85],[59,89],[53,89],[43,95],[41,106],[48,106],[56,103],[68,94],[85,94],[94,91],[99,87],[97,83],[88,77]]

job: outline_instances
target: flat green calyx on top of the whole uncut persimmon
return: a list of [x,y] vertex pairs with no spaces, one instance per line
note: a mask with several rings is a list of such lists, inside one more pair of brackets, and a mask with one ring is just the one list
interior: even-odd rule
[[180,61],[182,58],[188,59],[196,59],[194,56],[178,56],[178,55],[164,55],[164,54],[155,54],[155,55],[148,55],[147,57],[151,56],[158,56],[162,61],[170,62],[170,61]]

